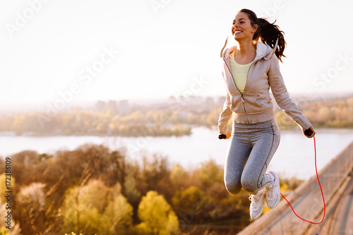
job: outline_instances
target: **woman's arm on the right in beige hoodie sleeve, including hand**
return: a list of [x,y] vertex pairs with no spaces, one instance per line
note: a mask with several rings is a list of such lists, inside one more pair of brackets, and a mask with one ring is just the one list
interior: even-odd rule
[[[310,121],[305,118],[305,116],[301,113],[297,104],[295,104],[292,99],[289,97],[287,88],[285,86],[285,81],[282,78],[282,74],[280,72],[280,63],[277,59],[277,56],[273,55],[273,58],[270,59],[270,70],[268,71],[268,80],[270,83],[270,88],[273,92],[273,96],[277,104],[281,109],[290,116],[290,118],[295,121],[298,126],[300,126],[301,130],[304,132],[306,129],[313,127],[311,126]],[[313,131],[313,135],[315,132]],[[311,138],[313,135],[308,136]]]

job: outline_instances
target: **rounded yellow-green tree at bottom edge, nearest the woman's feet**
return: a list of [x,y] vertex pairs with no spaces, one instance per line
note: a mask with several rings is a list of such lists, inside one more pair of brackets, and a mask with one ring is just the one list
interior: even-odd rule
[[149,191],[138,205],[141,223],[136,227],[139,234],[168,235],[179,231],[178,217],[162,195]]

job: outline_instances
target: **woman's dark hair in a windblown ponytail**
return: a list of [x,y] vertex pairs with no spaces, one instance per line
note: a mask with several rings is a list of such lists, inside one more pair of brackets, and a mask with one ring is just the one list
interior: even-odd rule
[[285,57],[283,52],[285,51],[285,47],[287,45],[285,41],[284,34],[278,25],[274,23],[268,22],[265,18],[258,18],[256,13],[249,9],[241,9],[239,12],[246,13],[249,16],[251,21],[251,26],[258,25],[258,29],[253,34],[253,40],[261,39],[262,42],[268,44],[272,49],[275,47],[276,41],[278,39],[278,46],[276,48],[275,54],[277,58],[282,62],[282,56]]

